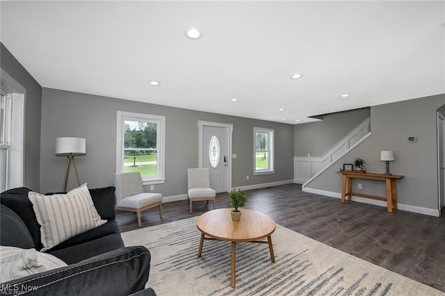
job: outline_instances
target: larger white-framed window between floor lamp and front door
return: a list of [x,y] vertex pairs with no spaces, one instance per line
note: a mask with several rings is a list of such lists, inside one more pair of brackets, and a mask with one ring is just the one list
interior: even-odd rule
[[116,172],[140,172],[143,184],[165,183],[165,117],[118,111]]

